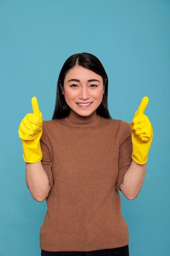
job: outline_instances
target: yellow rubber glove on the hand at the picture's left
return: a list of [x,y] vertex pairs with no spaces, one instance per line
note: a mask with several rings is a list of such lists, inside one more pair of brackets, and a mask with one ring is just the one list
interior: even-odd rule
[[36,97],[32,98],[31,103],[33,113],[27,114],[24,119],[22,119],[18,134],[22,139],[24,161],[27,163],[36,163],[42,159],[40,146],[40,138],[42,135],[42,114],[39,110]]

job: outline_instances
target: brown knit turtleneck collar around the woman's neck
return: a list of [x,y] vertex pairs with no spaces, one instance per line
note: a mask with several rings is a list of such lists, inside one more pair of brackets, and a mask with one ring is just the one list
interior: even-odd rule
[[73,128],[92,128],[99,124],[99,120],[100,116],[96,112],[88,117],[82,117],[71,110],[68,117],[65,117],[66,123]]

